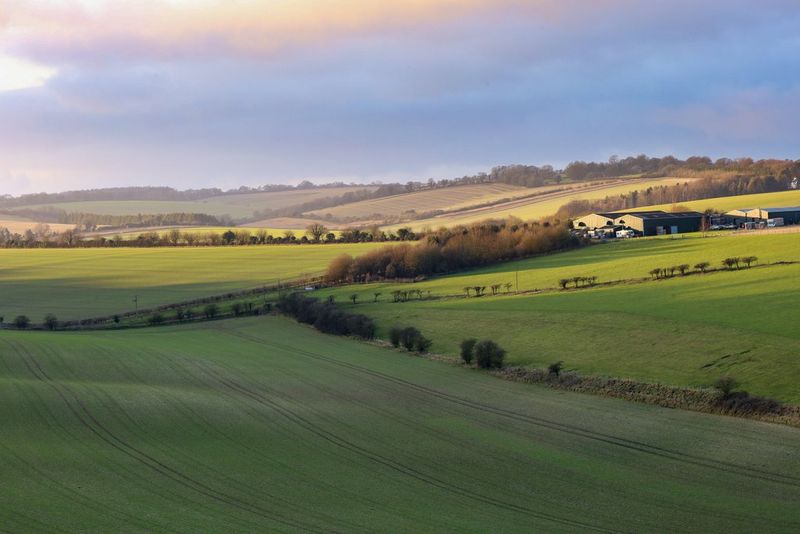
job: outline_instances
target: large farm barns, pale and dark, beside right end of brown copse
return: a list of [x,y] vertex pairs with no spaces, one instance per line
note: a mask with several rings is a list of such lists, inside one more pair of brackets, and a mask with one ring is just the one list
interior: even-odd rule
[[640,211],[618,213],[593,213],[574,221],[575,228],[595,230],[604,227],[622,227],[637,235],[665,235],[698,232],[705,216],[696,211],[666,212]]

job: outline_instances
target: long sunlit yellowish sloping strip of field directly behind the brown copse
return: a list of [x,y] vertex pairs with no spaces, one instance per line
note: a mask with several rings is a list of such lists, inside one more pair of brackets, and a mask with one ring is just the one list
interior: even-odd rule
[[[452,226],[455,224],[470,224],[491,218],[519,217],[523,220],[540,219],[548,217],[558,211],[558,209],[571,200],[590,200],[605,198],[607,196],[620,195],[634,190],[643,190],[648,187],[660,185],[673,185],[691,181],[690,178],[657,178],[657,179],[631,179],[625,183],[611,183],[601,186],[578,188],[574,191],[561,191],[549,195],[533,197],[514,201],[507,204],[498,204],[477,210],[466,210],[463,212],[446,214],[429,219],[420,219],[410,223],[414,229],[426,227],[438,228],[440,226]],[[390,225],[387,228],[394,229],[402,225]]]

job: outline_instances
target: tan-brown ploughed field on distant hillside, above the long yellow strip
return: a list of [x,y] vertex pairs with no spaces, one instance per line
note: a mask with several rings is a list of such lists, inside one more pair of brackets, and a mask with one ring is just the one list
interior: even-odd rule
[[[556,187],[558,186],[546,186],[538,189],[550,190]],[[353,202],[334,208],[311,211],[308,214],[314,217],[324,217],[327,214],[334,217],[369,217],[376,213],[384,216],[400,215],[410,210],[424,213],[434,210],[458,209],[504,198],[515,198],[529,195],[538,189],[507,184],[461,185]]]

